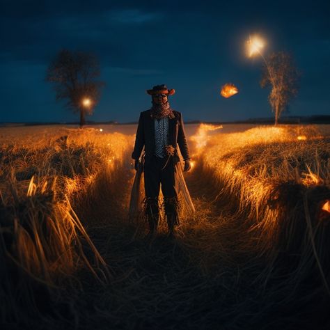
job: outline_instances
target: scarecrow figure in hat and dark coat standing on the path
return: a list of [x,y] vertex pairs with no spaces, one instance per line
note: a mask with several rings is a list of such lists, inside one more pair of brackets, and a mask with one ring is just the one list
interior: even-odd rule
[[[152,107],[140,113],[139,125],[132,158],[135,160],[136,178],[134,187],[139,194],[139,175],[144,172],[144,191],[146,219],[150,234],[157,233],[159,223],[159,189],[162,187],[164,209],[168,225],[168,233],[175,236],[175,226],[179,224],[178,193],[184,192],[184,200],[194,211],[187,186],[184,183],[178,146],[184,159],[184,171],[191,168],[189,148],[184,134],[182,115],[171,109],[168,96],[175,93],[165,85],[157,85],[148,90],[152,97]],[[130,210],[134,201],[132,189]],[[134,200],[134,201],[133,201]],[[136,204],[136,203],[135,203]]]

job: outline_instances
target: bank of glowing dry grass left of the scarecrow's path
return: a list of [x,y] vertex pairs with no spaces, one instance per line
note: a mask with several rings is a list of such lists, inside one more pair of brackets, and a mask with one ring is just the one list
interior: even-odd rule
[[102,171],[123,163],[129,143],[122,134],[96,129],[23,129],[22,136],[1,131],[2,322],[24,323],[23,315],[29,320],[45,306],[52,310],[63,286],[77,286],[81,267],[102,283],[109,280],[72,203]]

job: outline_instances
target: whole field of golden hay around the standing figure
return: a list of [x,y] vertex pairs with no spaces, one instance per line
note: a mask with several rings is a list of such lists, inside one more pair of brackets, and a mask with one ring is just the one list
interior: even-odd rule
[[330,127],[187,131],[196,214],[149,242],[129,131],[0,129],[4,329],[329,329]]

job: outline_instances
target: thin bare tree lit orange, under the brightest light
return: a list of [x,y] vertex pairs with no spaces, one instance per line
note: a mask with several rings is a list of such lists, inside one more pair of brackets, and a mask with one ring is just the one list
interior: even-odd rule
[[268,100],[275,113],[275,125],[281,113],[288,109],[289,102],[297,96],[300,73],[294,65],[290,54],[285,52],[272,53],[265,58],[262,68],[260,86],[271,86]]

